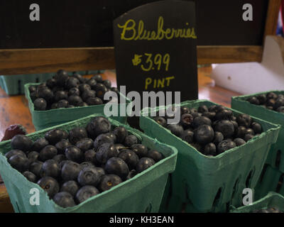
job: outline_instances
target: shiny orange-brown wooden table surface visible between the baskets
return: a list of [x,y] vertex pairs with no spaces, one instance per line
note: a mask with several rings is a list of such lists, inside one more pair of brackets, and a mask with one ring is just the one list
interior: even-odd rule
[[[217,104],[230,107],[231,96],[239,94],[215,86],[214,80],[209,77],[211,72],[212,67],[200,67],[198,69],[199,99],[209,99]],[[111,83],[116,86],[114,72],[106,71],[102,76],[104,79],[111,80]],[[28,110],[28,102],[24,95],[8,96],[0,88],[0,111],[0,139],[3,138],[6,128],[15,123],[24,126],[28,133],[35,131],[31,120],[31,113]],[[3,212],[13,212],[13,207],[11,206],[4,184],[0,184],[0,213]]]

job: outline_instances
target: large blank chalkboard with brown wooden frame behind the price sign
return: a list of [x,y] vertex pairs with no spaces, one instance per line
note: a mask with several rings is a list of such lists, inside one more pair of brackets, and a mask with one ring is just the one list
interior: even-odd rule
[[[154,1],[0,1],[0,74],[113,69],[114,19]],[[265,35],[275,34],[280,0],[195,2],[199,64],[261,61]],[[40,21],[30,20],[35,3]],[[244,4],[253,7],[252,21],[242,18]]]

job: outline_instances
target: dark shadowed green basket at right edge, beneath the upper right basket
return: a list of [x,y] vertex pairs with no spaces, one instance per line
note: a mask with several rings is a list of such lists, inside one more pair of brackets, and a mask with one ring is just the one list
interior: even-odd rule
[[255,190],[255,198],[261,199],[268,192],[276,192],[284,196],[284,174],[279,170],[267,165],[263,167],[261,177]]

